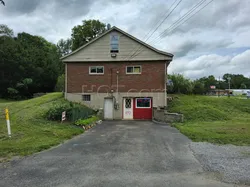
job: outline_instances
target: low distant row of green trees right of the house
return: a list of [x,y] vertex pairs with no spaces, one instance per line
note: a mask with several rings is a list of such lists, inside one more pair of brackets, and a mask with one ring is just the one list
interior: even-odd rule
[[[185,78],[181,74],[168,75],[168,92],[182,94],[206,94],[214,89],[250,89],[250,78],[241,74],[226,73],[221,79],[213,75],[196,80]],[[211,89],[211,86],[215,88]]]

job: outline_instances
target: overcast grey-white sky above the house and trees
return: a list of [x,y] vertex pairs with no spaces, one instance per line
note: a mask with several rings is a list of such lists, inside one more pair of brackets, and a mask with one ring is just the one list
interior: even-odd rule
[[[99,19],[145,41],[145,36],[168,14],[172,3],[176,2],[174,7],[179,2],[4,1],[6,6],[0,5],[0,24],[7,24],[15,34],[24,31],[41,35],[53,43],[70,37],[73,26],[84,19]],[[172,32],[161,34],[200,1],[182,0],[147,43],[175,55],[169,73],[181,73],[191,79],[210,74],[218,78],[224,73],[250,77],[250,0],[214,0],[188,21],[172,27]]]

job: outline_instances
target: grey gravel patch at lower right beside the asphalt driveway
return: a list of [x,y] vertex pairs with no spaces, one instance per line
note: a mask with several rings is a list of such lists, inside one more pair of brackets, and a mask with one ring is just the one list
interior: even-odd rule
[[250,146],[191,142],[190,149],[203,169],[219,180],[250,185]]

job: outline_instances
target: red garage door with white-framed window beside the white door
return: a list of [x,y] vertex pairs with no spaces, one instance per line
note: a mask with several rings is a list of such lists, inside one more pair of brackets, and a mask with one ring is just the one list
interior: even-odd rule
[[152,98],[134,98],[134,119],[152,119]]

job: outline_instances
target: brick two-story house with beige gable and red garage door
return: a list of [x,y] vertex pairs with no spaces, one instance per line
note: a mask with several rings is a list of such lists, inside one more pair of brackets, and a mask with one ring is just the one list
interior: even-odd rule
[[65,98],[102,108],[105,119],[152,119],[164,107],[173,55],[112,27],[62,57]]

